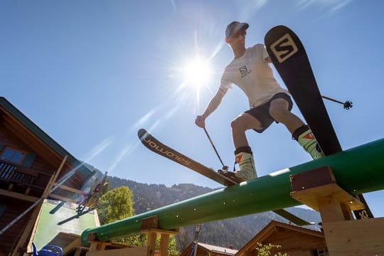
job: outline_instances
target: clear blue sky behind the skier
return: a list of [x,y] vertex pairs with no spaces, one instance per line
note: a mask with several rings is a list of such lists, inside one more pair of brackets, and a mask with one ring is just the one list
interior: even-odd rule
[[[384,134],[383,12],[380,0],[1,0],[0,96],[73,156],[110,176],[218,188],[146,149],[137,131],[145,128],[186,156],[221,167],[194,120],[233,59],[224,41],[228,23],[250,24],[246,47],[262,43],[273,26],[297,33],[321,93],[353,102],[343,110],[325,101],[341,146],[351,149]],[[187,72],[193,63],[197,74]],[[230,168],[230,121],[247,107],[234,86],[206,120]],[[296,106],[292,112],[302,117]],[[247,137],[258,176],[311,160],[282,124]],[[384,216],[383,196],[366,194],[377,217]]]

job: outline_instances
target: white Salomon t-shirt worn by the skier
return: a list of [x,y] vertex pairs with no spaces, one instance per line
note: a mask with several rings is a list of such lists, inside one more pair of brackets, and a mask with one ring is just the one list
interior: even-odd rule
[[274,79],[272,68],[265,60],[267,57],[267,50],[261,43],[246,48],[244,55],[225,68],[220,87],[229,89],[233,83],[238,85],[247,95],[250,108],[264,104],[279,92],[288,94]]

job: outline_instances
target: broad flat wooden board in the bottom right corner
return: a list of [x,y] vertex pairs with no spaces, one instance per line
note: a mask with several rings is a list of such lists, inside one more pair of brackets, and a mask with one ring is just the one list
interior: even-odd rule
[[330,255],[384,255],[384,218],[324,223]]

